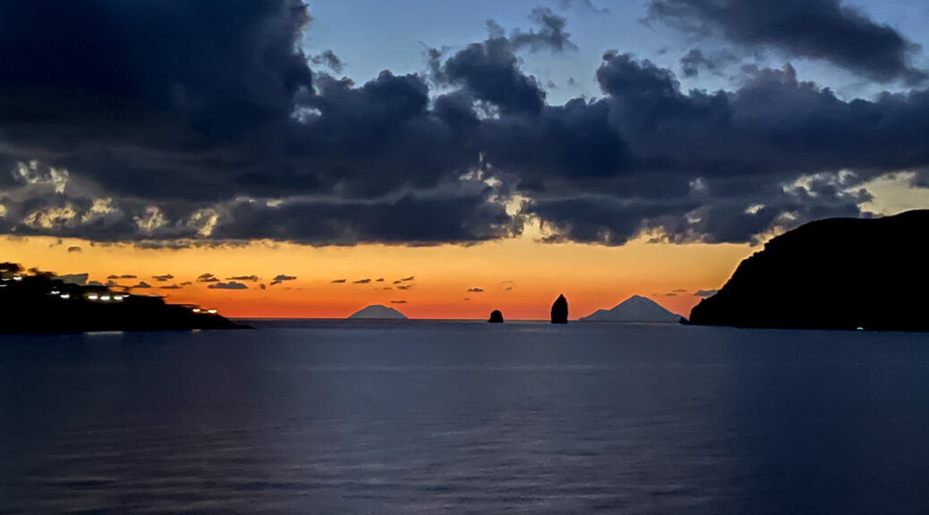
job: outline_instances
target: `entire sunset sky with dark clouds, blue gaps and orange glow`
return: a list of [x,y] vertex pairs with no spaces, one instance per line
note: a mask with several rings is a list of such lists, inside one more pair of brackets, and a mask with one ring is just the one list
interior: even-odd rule
[[687,315],[929,205],[915,0],[7,4],[0,261],[224,315]]

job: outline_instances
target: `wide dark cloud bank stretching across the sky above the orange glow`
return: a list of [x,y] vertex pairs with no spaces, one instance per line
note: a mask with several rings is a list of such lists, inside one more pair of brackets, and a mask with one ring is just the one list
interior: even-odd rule
[[[707,1],[652,2],[666,11],[653,14],[710,19]],[[929,170],[925,90],[844,99],[791,67],[749,69],[728,91],[682,91],[673,71],[608,52],[600,97],[548,105],[517,52],[546,38],[569,48],[550,11],[529,32],[491,24],[485,41],[430,51],[428,78],[385,71],[355,84],[309,70],[294,45],[308,15],[293,0],[8,4],[0,234],[19,238],[466,245],[538,219],[550,242],[749,242],[860,216],[867,181]],[[765,9],[796,0],[776,4]],[[811,5],[814,21],[822,6],[845,25],[853,12]],[[765,38],[779,37],[772,27]],[[818,37],[798,39],[799,51]],[[886,62],[883,75],[903,77]]]

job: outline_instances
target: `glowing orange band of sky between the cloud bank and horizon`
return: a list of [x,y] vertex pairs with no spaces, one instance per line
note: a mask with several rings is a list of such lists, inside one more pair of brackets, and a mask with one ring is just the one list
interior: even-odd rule
[[[69,251],[80,247],[81,251]],[[88,273],[106,282],[110,275],[131,286],[145,281],[170,303],[197,303],[233,317],[342,318],[380,303],[412,318],[486,318],[500,309],[509,319],[542,319],[564,293],[571,317],[589,315],[639,294],[687,315],[697,290],[719,288],[748,245],[671,245],[635,241],[622,247],[543,244],[531,238],[480,245],[437,247],[314,248],[255,242],[242,247],[142,250],[55,238],[0,240],[4,259],[58,274]],[[243,282],[248,290],[210,290],[202,274],[261,277]],[[157,282],[152,276],[175,278]],[[297,277],[277,286],[278,275]],[[412,281],[394,284],[406,277]],[[377,279],[383,278],[383,282]],[[345,279],[345,283],[334,280]],[[368,284],[354,281],[370,279]],[[159,287],[193,284],[181,290]],[[267,290],[260,290],[265,284]],[[400,289],[404,287],[405,289]],[[479,289],[482,291],[471,291]],[[678,290],[678,291],[675,291]],[[686,290],[686,291],[683,291]],[[469,300],[465,300],[469,299]]]

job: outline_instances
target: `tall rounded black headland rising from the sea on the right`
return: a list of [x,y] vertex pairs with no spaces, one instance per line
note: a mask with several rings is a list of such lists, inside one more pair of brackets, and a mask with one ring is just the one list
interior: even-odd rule
[[771,239],[690,323],[739,328],[929,330],[929,211],[834,218]]

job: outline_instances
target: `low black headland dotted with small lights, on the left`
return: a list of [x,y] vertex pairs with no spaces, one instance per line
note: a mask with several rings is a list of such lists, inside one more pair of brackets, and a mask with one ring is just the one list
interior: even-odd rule
[[0,264],[0,333],[244,328],[197,306],[82,286],[19,264]]

